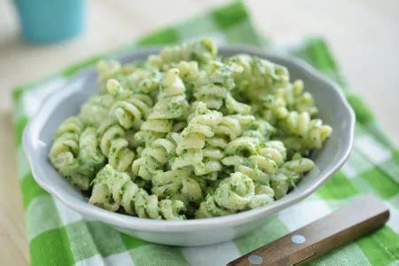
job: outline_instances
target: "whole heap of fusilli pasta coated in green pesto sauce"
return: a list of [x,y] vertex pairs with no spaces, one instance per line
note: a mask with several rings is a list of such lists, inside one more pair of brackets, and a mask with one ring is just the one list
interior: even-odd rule
[[210,39],[97,68],[99,94],[59,126],[49,160],[110,211],[182,220],[262,207],[332,134],[285,66],[220,57]]

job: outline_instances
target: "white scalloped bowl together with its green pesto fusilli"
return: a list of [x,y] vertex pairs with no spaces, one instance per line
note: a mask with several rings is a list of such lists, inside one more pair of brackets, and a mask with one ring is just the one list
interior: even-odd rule
[[151,242],[238,238],[315,192],[355,116],[312,67],[210,39],[100,60],[53,90],[23,145],[35,181]]

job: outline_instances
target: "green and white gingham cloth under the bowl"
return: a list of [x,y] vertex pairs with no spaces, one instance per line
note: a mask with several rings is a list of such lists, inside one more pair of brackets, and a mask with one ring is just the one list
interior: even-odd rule
[[[203,36],[213,38],[216,43],[250,43],[269,51],[285,51],[308,61],[340,83],[356,112],[355,146],[344,167],[316,193],[281,211],[246,237],[212,246],[176,247],[148,243],[115,231],[104,223],[85,220],[35,183],[22,151],[21,135],[43,98],[98,58],[138,46],[181,43]],[[379,128],[370,109],[348,90],[323,39],[312,37],[294,43],[272,44],[254,31],[246,8],[239,2],[164,28],[119,51],[85,60],[41,81],[21,86],[13,94],[13,103],[18,173],[32,265],[223,265],[327,215],[365,192],[374,193],[390,207],[391,217],[387,225],[311,264],[399,265],[399,152]]]

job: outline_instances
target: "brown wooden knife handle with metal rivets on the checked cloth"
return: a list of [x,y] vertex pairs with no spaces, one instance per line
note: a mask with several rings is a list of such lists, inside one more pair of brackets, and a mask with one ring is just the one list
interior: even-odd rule
[[384,203],[365,195],[227,265],[299,265],[378,229],[388,218]]

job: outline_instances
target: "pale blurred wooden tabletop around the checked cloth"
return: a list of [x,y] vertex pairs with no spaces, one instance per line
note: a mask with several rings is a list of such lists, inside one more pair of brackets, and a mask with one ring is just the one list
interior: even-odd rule
[[[28,264],[13,150],[12,88],[226,2],[88,0],[82,35],[66,43],[35,46],[21,42],[12,1],[0,0],[0,265]],[[399,145],[398,1],[253,0],[246,4],[265,35],[279,39],[324,35],[353,90],[364,97]]]

